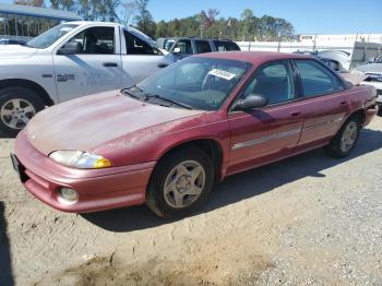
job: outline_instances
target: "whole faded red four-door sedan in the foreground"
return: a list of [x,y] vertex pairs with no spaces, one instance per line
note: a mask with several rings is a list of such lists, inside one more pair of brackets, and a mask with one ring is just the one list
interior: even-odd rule
[[146,203],[170,217],[226,176],[322,146],[347,156],[377,112],[372,86],[309,56],[205,53],[39,112],[12,160],[26,190],[60,211]]

